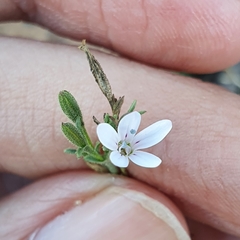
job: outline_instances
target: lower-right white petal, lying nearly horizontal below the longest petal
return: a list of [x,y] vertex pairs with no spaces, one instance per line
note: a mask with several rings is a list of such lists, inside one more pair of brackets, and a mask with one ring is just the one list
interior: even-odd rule
[[147,168],[158,167],[162,162],[162,160],[159,157],[151,153],[142,151],[135,151],[133,154],[129,156],[129,158],[135,164]]

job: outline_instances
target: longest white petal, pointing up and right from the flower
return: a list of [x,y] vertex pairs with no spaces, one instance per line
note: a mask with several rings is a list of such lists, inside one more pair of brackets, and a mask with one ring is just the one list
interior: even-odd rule
[[170,120],[158,121],[138,133],[132,141],[132,147],[134,150],[151,147],[162,141],[171,129]]

